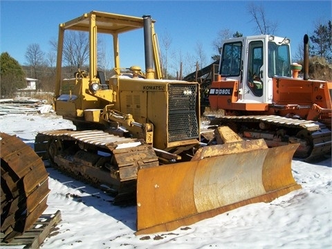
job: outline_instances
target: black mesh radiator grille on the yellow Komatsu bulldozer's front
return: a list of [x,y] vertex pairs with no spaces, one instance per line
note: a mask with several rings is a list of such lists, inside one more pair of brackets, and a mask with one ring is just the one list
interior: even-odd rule
[[169,142],[199,138],[196,84],[169,84],[168,93]]

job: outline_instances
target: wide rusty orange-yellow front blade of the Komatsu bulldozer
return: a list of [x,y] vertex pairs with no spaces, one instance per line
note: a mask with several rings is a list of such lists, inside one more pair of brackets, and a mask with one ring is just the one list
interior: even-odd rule
[[140,169],[136,235],[175,230],[300,189],[291,172],[297,147],[221,151],[201,160]]

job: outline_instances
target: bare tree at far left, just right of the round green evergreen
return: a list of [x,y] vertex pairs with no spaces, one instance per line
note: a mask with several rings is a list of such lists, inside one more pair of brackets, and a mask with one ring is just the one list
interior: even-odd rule
[[39,44],[30,44],[26,49],[24,57],[26,58],[28,66],[31,67],[31,73],[33,73],[32,77],[35,77],[35,79],[37,79],[38,68],[45,64],[44,56],[45,53],[40,48]]

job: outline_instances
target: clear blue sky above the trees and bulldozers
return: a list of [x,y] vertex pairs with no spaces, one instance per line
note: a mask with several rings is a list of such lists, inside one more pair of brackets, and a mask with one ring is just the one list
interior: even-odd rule
[[[197,55],[201,44],[208,64],[216,54],[212,45],[221,30],[239,31],[257,35],[255,22],[248,14],[248,4],[263,6],[269,21],[277,23],[274,35],[291,39],[295,55],[303,36],[312,35],[317,21],[331,20],[331,1],[3,1],[1,11],[1,53],[8,52],[19,64],[25,65],[24,57],[30,44],[39,44],[44,53],[51,50],[50,40],[57,39],[60,23],[79,17],[91,10],[113,12],[121,15],[151,15],[156,20],[155,30],[160,47],[162,38],[169,37],[169,57]],[[326,23],[324,22],[324,23]],[[122,67],[145,67],[142,35],[123,38],[128,46],[120,59]],[[120,46],[121,44],[120,38]],[[124,46],[122,46],[124,47]],[[207,64],[207,65],[208,65]],[[110,68],[113,67],[111,60]],[[194,65],[193,65],[194,71]]]

